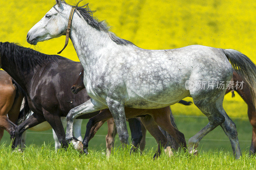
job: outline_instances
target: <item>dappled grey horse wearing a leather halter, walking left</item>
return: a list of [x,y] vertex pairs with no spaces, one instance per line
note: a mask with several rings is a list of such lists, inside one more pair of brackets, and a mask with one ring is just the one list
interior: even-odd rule
[[[55,2],[50,11],[28,31],[27,41],[36,45],[39,41],[65,35],[70,12],[75,9],[72,22],[68,24],[67,37],[69,35],[83,65],[84,85],[91,99],[69,111],[68,143],[76,149],[82,148],[73,135],[73,121],[81,115],[109,108],[119,139],[122,144],[127,144],[129,134],[124,107],[157,109],[192,97],[209,123],[189,139],[189,152],[198,152],[200,140],[220,125],[230,140],[234,157],[240,158],[236,125],[228,117],[222,103],[225,88],[233,70],[236,70],[250,87],[255,104],[256,66],[246,55],[234,49],[202,45],[166,50],[142,49],[110,32],[105,22],[99,22],[92,16],[93,11],[88,4],[79,7],[81,1],[76,6],[60,0]],[[205,85],[205,82],[208,84]],[[220,87],[220,82],[223,82],[223,87]],[[159,118],[160,115],[154,120]],[[174,131],[169,133],[182,146],[187,146]],[[84,148],[87,147],[86,141],[84,139]]]

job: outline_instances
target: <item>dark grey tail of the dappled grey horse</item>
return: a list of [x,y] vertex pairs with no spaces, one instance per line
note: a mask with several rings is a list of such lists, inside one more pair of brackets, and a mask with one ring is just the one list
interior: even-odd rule
[[233,69],[236,70],[238,75],[250,87],[252,94],[252,101],[256,106],[256,66],[244,54],[234,49],[223,49],[224,54],[227,56],[229,62],[232,64]]

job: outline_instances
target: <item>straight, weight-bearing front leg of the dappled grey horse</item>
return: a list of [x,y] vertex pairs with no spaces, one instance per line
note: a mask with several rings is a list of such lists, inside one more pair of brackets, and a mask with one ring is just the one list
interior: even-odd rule
[[107,99],[106,101],[108,104],[108,108],[114,118],[119,139],[124,146],[124,144],[128,144],[129,137],[126,126],[124,104],[120,101],[113,99]]

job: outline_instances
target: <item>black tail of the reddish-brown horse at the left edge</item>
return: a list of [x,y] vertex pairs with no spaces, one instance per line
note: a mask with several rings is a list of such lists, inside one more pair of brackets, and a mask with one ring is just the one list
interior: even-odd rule
[[28,106],[28,100],[27,100],[27,97],[26,97],[26,95],[25,95],[24,90],[23,90],[23,89],[20,87],[20,85],[19,85],[15,80],[13,80],[13,79],[12,79],[12,83],[13,83],[13,85],[14,85],[15,88],[16,88],[16,96],[15,96],[15,98],[17,98],[18,95],[21,95],[21,94],[23,94],[23,95],[25,96],[25,97],[24,97],[24,100],[25,100],[24,107],[23,107],[22,110],[20,111],[19,116],[18,116],[18,120],[17,120],[17,122],[16,122],[16,124],[20,124],[20,123],[22,123],[23,121],[26,120],[27,115],[29,115],[29,113],[30,113],[30,108],[29,108],[29,106]]

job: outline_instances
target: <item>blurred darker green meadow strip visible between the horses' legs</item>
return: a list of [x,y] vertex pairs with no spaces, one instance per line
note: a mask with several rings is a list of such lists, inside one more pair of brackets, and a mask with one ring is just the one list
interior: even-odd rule
[[[187,115],[175,115],[176,124],[179,130],[184,133],[186,140],[195,135],[200,129],[202,129],[208,122],[207,118],[204,116],[187,116]],[[88,120],[84,120],[82,124],[82,134],[84,137],[85,126]],[[247,119],[234,118],[233,121],[236,123],[238,138],[240,141],[241,150],[248,152],[249,146],[251,144],[252,137],[252,126]],[[128,126],[129,128],[129,126]],[[105,123],[96,133],[95,137],[89,142],[89,146],[96,150],[102,151],[106,149],[105,136],[107,134],[107,123]],[[130,129],[128,129],[130,133]],[[131,137],[131,135],[130,135]],[[52,130],[34,132],[28,130],[27,134],[27,146],[34,144],[36,146],[41,146],[43,143],[51,143],[51,147],[54,147]],[[10,135],[5,131],[4,137],[1,140],[1,144],[10,144]],[[116,137],[116,145],[120,145],[118,137]],[[155,139],[147,133],[146,138],[146,149],[151,149],[152,147],[156,149]],[[230,142],[228,137],[225,135],[220,126],[206,135],[200,142],[200,150],[209,151],[217,150],[224,152],[232,152]],[[105,151],[104,151],[105,152]]]

